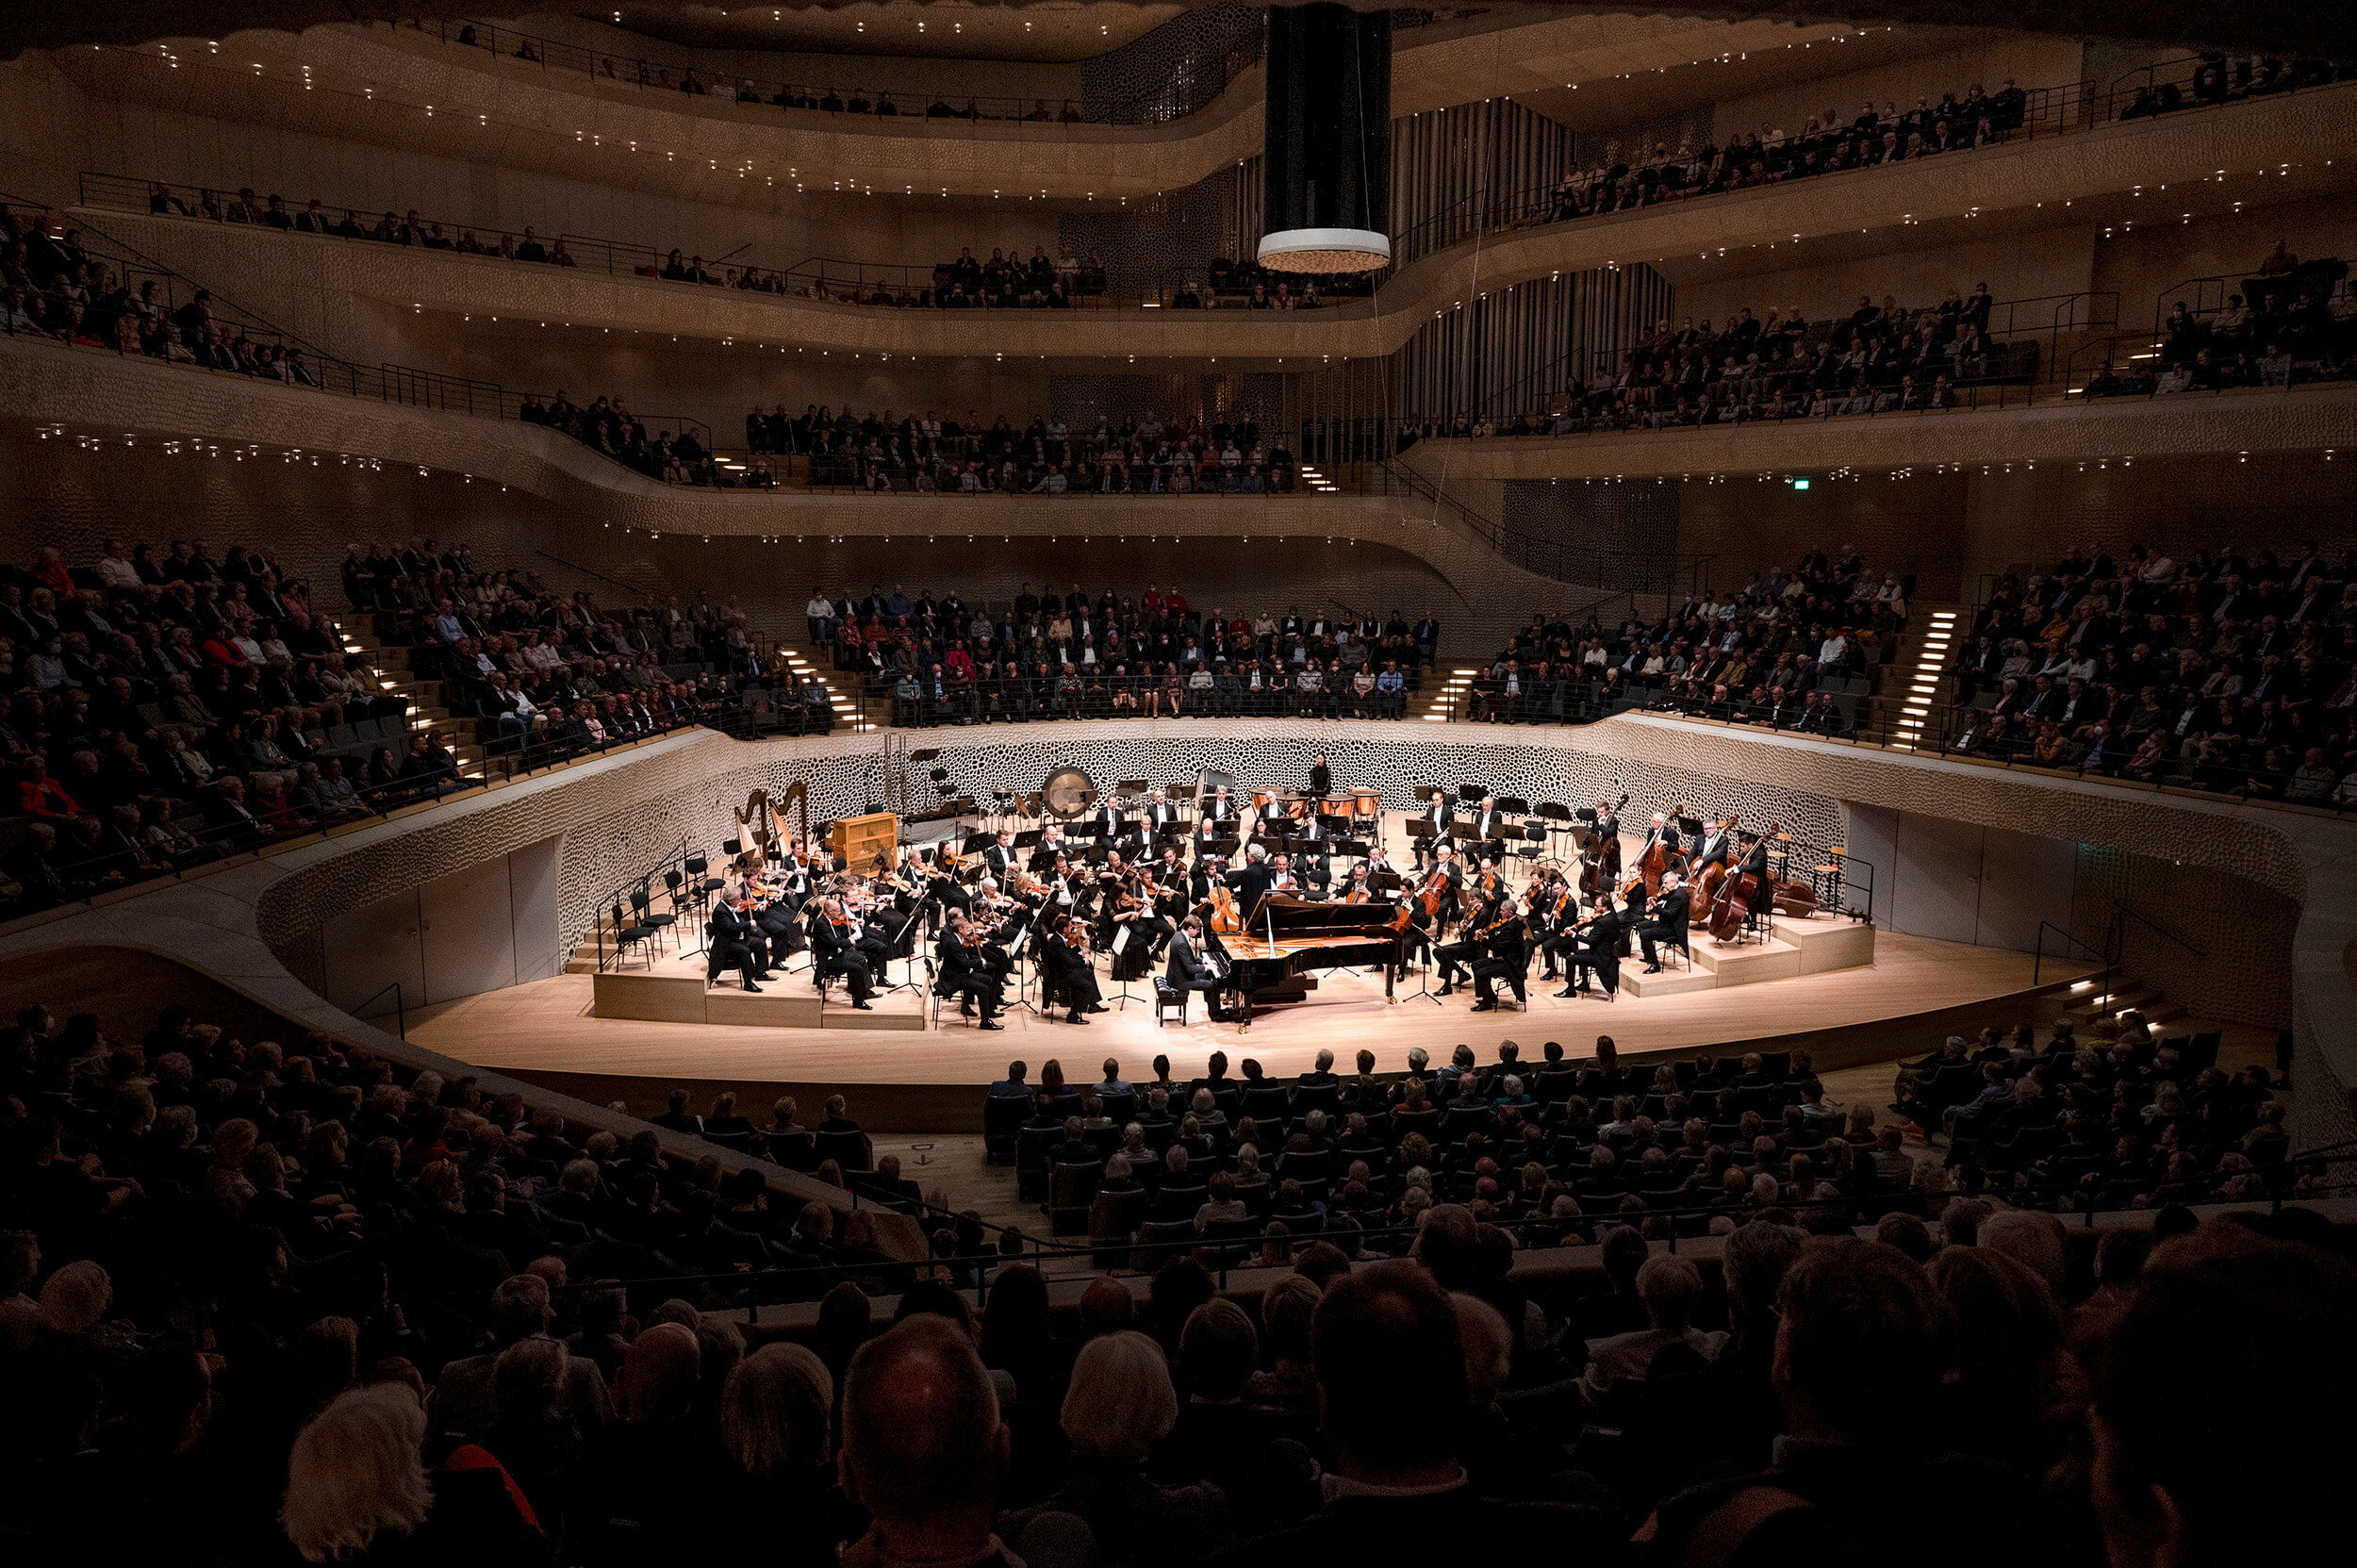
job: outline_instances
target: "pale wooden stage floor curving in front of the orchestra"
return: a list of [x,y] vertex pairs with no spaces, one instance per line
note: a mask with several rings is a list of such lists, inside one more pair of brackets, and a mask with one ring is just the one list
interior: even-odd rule
[[[1633,969],[1631,962],[1624,974]],[[1329,971],[1306,1002],[1263,1012],[1249,1033],[1204,1021],[1200,1007],[1190,1009],[1190,1023],[1157,1028],[1153,993],[1141,981],[1131,986],[1138,1000],[1122,1009],[1108,995],[1108,1012],[1087,1026],[1009,1007],[1004,1033],[988,1035],[955,1012],[943,1028],[922,1033],[596,1019],[589,1016],[592,976],[561,974],[422,1009],[410,1016],[410,1040],[592,1099],[653,1096],[658,1103],[674,1082],[731,1087],[747,1096],[820,1087],[924,1087],[964,1096],[999,1078],[1011,1059],[1028,1061],[1037,1075],[1049,1056],[1063,1061],[1072,1082],[1094,1082],[1105,1056],[1120,1059],[1127,1078],[1146,1078],[1155,1054],[1167,1054],[1171,1073],[1188,1078],[1204,1070],[1211,1052],[1226,1052],[1230,1066],[1252,1056],[1273,1078],[1289,1078],[1310,1068],[1320,1047],[1334,1052],[1339,1070],[1348,1073],[1355,1052],[1372,1049],[1376,1070],[1395,1073],[1407,1066],[1414,1045],[1428,1049],[1438,1066],[1459,1042],[1492,1059],[1497,1042],[1516,1040],[1534,1061],[1546,1040],[1560,1040],[1572,1059],[1589,1056],[1596,1035],[1612,1035],[1624,1054],[1725,1052],[1777,1040],[1780,1047],[1815,1049],[1820,1066],[1846,1066],[1933,1049],[1966,1021],[2025,1021],[2039,993],[2060,990],[2079,974],[2086,969],[2048,962],[2039,988],[2032,988],[2025,953],[1876,931],[1871,967],[1683,995],[1633,997],[1624,990],[1610,1004],[1596,997],[1556,1000],[1537,983],[1537,971],[1530,1012],[1468,1012],[1468,990],[1440,1004],[1405,997],[1386,1004],[1381,976]],[[808,990],[799,974],[780,983]],[[768,1099],[745,1108],[761,1120]],[[806,1103],[804,1120],[813,1111]]]

